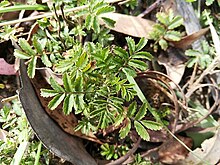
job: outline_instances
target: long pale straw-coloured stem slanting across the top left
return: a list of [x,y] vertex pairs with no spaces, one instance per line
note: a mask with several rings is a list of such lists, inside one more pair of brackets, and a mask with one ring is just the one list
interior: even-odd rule
[[[120,2],[120,1],[122,1],[122,0],[106,0],[107,3],[116,3],[116,2]],[[83,10],[83,9],[88,8],[88,7],[89,7],[89,5],[83,5],[83,6],[79,6],[79,7],[74,7],[74,8],[71,8],[71,9],[64,10],[64,13],[70,13],[70,12],[73,12],[73,11]],[[33,17],[30,17],[30,18],[28,17],[28,18],[23,18],[23,19],[20,19],[20,20],[13,20],[13,21],[2,22],[2,23],[0,23],[0,27],[1,26],[5,26],[5,25],[14,25],[16,23],[21,23],[21,22],[33,21],[33,20],[37,20],[37,19],[41,19],[41,18],[45,18],[45,17],[52,17],[54,15],[55,15],[54,12],[47,12],[45,14],[33,16]],[[58,10],[57,11],[57,15],[62,15],[62,11]]]

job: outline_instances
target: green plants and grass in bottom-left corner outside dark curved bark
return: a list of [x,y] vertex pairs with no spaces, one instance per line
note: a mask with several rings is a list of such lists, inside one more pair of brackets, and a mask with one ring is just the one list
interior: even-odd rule
[[[49,151],[41,148],[18,100],[12,106],[5,105],[0,111],[1,131],[5,139],[0,140],[0,163],[6,164],[49,164]],[[44,159],[44,162],[40,158]]]

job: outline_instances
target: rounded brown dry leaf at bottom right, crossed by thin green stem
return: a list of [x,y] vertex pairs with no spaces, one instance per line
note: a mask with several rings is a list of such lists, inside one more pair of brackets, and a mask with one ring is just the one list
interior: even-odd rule
[[[192,139],[177,136],[188,147],[192,147]],[[177,164],[179,161],[185,159],[189,151],[180,144],[176,139],[170,139],[162,144],[159,149],[159,159],[165,164]]]

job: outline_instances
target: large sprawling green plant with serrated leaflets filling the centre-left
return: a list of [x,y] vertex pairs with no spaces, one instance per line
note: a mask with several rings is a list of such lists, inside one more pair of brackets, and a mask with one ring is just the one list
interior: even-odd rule
[[[149,105],[138,105],[134,101],[136,82],[129,82],[128,75],[135,77],[137,71],[146,70],[146,61],[153,56],[142,51],[147,44],[145,38],[136,44],[134,39],[126,37],[127,49],[120,45],[109,46],[113,35],[107,27],[113,26],[114,21],[102,14],[112,11],[114,7],[103,1],[92,1],[88,8],[75,13],[74,21],[79,23],[67,21],[65,16],[59,20],[41,19],[31,42],[20,38],[21,49],[16,49],[14,55],[27,60],[30,78],[34,78],[36,68],[41,66],[62,73],[62,84],[50,77],[51,89],[41,89],[41,96],[52,98],[48,104],[51,110],[62,104],[65,115],[80,116],[75,131],[97,134],[113,126],[119,128],[116,136],[121,139],[135,130],[143,140],[149,140],[147,129],[159,130],[162,125],[157,119],[145,119]],[[100,28],[99,20],[107,23],[107,27]],[[86,37],[91,38],[83,42]],[[116,159],[127,151],[125,148],[121,151],[120,142],[116,146],[103,145],[101,155]]]

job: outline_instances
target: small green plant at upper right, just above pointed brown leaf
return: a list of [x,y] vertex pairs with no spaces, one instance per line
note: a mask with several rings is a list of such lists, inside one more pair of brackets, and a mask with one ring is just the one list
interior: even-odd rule
[[158,50],[158,45],[166,50],[168,48],[169,41],[179,41],[182,37],[181,33],[176,30],[183,23],[183,18],[181,16],[174,16],[172,10],[167,13],[159,12],[156,14],[159,23],[153,26],[152,32],[149,34],[150,38],[155,41],[153,48],[156,52]]

